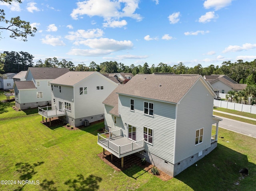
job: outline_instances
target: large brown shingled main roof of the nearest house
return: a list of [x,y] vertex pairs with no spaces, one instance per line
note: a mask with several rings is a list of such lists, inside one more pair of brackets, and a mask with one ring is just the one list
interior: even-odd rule
[[178,103],[200,78],[203,80],[201,75],[137,74],[117,93]]

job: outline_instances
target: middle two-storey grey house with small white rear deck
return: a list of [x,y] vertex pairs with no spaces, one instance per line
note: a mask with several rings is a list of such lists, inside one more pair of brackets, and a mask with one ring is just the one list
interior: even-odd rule
[[[64,112],[54,116],[72,126],[104,119],[102,102],[117,86],[98,72],[70,71],[51,82],[52,110]],[[40,111],[46,118],[53,117],[51,111]]]

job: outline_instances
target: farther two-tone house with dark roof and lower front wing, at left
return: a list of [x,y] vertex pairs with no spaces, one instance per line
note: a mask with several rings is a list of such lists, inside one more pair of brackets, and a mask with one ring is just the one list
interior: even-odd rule
[[15,81],[15,105],[27,109],[51,104],[50,82],[67,73],[68,68],[29,67],[26,81]]

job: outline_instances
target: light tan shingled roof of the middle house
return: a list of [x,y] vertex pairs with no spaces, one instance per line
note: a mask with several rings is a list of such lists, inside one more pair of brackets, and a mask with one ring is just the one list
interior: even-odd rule
[[51,81],[52,84],[59,84],[59,85],[67,85],[67,86],[74,86],[76,83],[82,81],[83,79],[89,77],[90,75],[97,73],[97,72],[88,72],[88,71],[70,71],[65,73],[64,75],[54,79]]

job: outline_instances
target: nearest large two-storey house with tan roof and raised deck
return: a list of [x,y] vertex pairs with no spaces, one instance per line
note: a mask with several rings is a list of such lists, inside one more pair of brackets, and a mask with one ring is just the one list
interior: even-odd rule
[[137,74],[104,100],[110,132],[98,144],[122,166],[136,154],[175,176],[217,146],[214,96],[201,75]]

